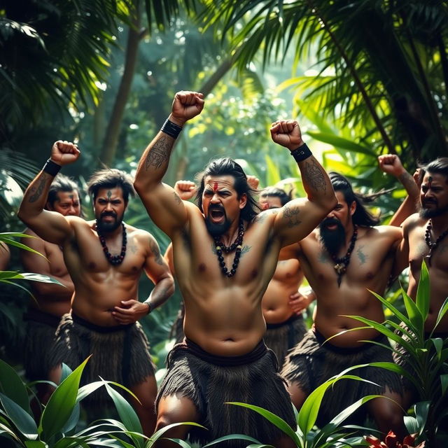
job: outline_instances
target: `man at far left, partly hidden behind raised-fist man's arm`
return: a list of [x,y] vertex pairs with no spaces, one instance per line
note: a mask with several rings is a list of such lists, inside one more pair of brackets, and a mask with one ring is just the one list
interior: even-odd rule
[[[63,174],[58,174],[50,185],[45,209],[62,216],[80,216],[78,186]],[[26,272],[36,272],[56,279],[61,283],[41,283],[31,281],[34,298],[30,300],[24,320],[25,330],[24,365],[29,381],[48,379],[50,371],[48,351],[55,339],[55,332],[61,317],[70,312],[73,281],[65,266],[62,248],[57,244],[40,239],[33,230],[23,232],[34,238],[22,238],[22,244],[29,246],[45,258],[29,251],[20,251],[20,259]],[[52,388],[47,384],[36,384],[38,398],[46,403]]]

